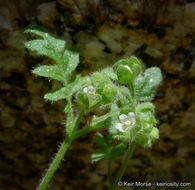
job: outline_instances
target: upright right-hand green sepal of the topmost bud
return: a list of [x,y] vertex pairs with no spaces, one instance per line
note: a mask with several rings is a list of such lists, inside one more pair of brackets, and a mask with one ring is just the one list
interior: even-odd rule
[[131,56],[129,59],[129,66],[132,69],[133,76],[136,78],[141,72],[141,63],[135,56]]

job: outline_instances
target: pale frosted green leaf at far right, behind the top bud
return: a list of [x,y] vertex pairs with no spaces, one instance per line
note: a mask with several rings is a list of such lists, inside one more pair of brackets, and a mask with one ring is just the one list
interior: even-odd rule
[[143,76],[139,75],[134,81],[136,101],[151,101],[154,97],[154,88],[161,81],[161,71],[157,67],[147,69]]

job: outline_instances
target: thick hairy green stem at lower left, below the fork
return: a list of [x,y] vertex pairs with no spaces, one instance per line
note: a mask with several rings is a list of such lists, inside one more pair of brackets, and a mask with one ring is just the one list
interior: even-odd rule
[[48,183],[50,182],[54,172],[58,168],[59,163],[63,159],[68,147],[70,146],[70,144],[71,144],[71,141],[67,141],[67,140],[65,140],[61,144],[58,153],[56,154],[54,160],[52,161],[51,165],[49,166],[49,169],[47,170],[47,173],[43,177],[43,179],[42,179],[39,187],[37,188],[37,190],[45,190],[47,188]]

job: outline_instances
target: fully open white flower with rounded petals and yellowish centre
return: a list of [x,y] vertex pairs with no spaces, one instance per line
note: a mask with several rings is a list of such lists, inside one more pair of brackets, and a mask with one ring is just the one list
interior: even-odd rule
[[135,114],[133,112],[129,112],[127,115],[121,114],[119,119],[121,123],[117,123],[115,127],[120,132],[128,132],[136,123]]

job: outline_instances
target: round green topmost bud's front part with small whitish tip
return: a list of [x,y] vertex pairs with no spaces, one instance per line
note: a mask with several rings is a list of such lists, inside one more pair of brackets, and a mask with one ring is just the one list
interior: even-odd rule
[[133,72],[128,65],[119,65],[116,72],[119,83],[129,84],[133,82]]

